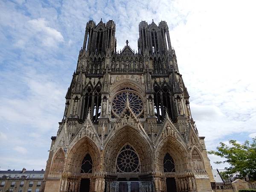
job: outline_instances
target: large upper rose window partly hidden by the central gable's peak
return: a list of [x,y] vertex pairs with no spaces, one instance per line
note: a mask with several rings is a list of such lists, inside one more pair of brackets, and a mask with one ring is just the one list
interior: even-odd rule
[[125,103],[129,101],[131,110],[136,116],[139,116],[143,112],[143,100],[134,90],[121,90],[116,93],[112,102],[112,111],[116,116],[125,109]]

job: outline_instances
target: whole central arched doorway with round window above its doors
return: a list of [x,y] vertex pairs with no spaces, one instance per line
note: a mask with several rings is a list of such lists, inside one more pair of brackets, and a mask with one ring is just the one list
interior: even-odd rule
[[138,128],[125,126],[116,130],[105,148],[106,191],[139,192],[145,191],[143,187],[153,188],[153,178],[148,177],[153,171],[152,149]]

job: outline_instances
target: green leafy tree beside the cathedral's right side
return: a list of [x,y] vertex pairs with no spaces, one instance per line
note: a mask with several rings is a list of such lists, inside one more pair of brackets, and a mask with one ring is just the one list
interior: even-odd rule
[[220,143],[217,151],[208,151],[208,154],[215,154],[223,157],[224,161],[216,161],[214,163],[229,163],[230,167],[225,168],[225,172],[221,172],[221,176],[227,179],[229,175],[238,173],[239,177],[249,176],[251,180],[256,180],[256,137],[252,143],[248,140],[244,144],[237,143],[236,140],[229,140],[231,146]]

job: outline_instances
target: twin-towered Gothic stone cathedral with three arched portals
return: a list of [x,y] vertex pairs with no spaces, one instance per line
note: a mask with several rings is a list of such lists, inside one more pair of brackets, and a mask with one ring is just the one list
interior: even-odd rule
[[116,50],[113,20],[89,20],[44,192],[212,192],[215,181],[165,21]]

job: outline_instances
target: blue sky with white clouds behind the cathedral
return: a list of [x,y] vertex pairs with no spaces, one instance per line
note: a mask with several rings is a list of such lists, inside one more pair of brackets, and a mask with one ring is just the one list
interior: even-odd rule
[[[0,0],[0,170],[45,169],[88,20],[165,20],[207,150],[256,137],[255,0]],[[209,155],[213,168],[218,157]]]

